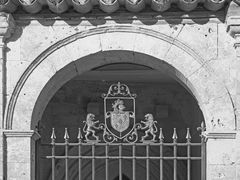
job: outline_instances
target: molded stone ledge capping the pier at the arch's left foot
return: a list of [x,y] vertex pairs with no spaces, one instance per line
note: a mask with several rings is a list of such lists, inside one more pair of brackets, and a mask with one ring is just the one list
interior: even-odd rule
[[5,137],[19,137],[19,138],[32,138],[34,141],[41,138],[41,135],[33,130],[30,131],[14,131],[14,130],[3,130]]

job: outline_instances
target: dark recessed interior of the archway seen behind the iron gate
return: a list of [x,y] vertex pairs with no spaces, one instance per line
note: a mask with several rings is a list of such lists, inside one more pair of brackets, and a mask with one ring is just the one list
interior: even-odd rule
[[[110,55],[112,53],[112,56]],[[108,58],[114,58],[115,55],[119,57],[124,54],[125,56],[130,56],[131,52],[115,51],[108,52]],[[103,55],[104,56],[104,55]],[[104,56],[105,57],[105,56]],[[89,62],[92,59],[101,59],[101,54],[96,53],[94,55],[85,57],[86,61]],[[154,58],[138,54],[138,58],[145,59],[148,61],[153,61]],[[82,61],[81,59],[78,61]],[[157,60],[158,61],[158,60]],[[51,178],[51,162],[49,160],[43,160],[42,157],[48,156],[51,153],[51,149],[47,145],[51,142],[51,129],[55,128],[55,135],[57,137],[56,142],[64,141],[64,128],[68,128],[71,138],[70,142],[77,142],[78,127],[83,128],[83,121],[86,119],[87,113],[94,113],[97,115],[97,119],[103,122],[103,101],[101,98],[102,93],[106,93],[108,86],[111,83],[121,81],[129,85],[131,91],[137,94],[136,98],[136,121],[140,122],[144,115],[151,113],[156,118],[158,122],[158,128],[164,129],[165,142],[172,141],[172,130],[173,127],[177,128],[179,135],[179,142],[186,142],[186,128],[191,128],[191,136],[193,142],[200,142],[199,132],[197,132],[197,127],[200,126],[201,121],[203,121],[203,116],[196,99],[191,94],[190,90],[187,90],[179,82],[181,82],[178,77],[173,73],[174,68],[168,64],[161,62],[159,69],[155,69],[149,66],[143,66],[136,63],[110,63],[104,66],[96,67],[77,75],[67,83],[65,83],[47,102],[45,112],[41,117],[38,130],[41,134],[41,143],[39,147],[39,167],[37,169],[39,172],[39,179],[52,179]],[[154,67],[154,66],[153,66]],[[160,68],[161,67],[161,68]],[[68,69],[68,67],[65,67]],[[64,74],[66,71],[61,70]],[[63,77],[63,76],[60,76]],[[188,92],[189,91],[189,92]],[[47,89],[46,92],[51,92],[51,89]],[[45,95],[43,93],[43,95]],[[44,102],[43,100],[39,102]],[[37,111],[39,112],[39,110]],[[159,133],[157,133],[159,136]],[[139,147],[138,147],[139,148]],[[141,156],[144,156],[144,149],[138,150]],[[199,148],[192,150],[192,156],[199,156]],[[98,155],[104,156],[104,150],[96,147],[96,152]],[[152,147],[150,149],[150,154],[159,156],[159,150]],[[169,147],[165,147],[164,155],[171,156],[173,150]],[[56,155],[63,155],[64,149],[58,148],[55,151]],[[70,148],[69,155],[76,155],[78,153],[78,148]],[[88,151],[82,152],[87,155]],[[111,153],[118,153],[118,149],[111,149]],[[130,149],[123,148],[123,154],[131,154]],[[89,154],[90,155],[90,154]],[[116,154],[117,155],[117,154]],[[186,155],[186,149],[179,147],[178,155]],[[131,170],[132,160],[123,160],[123,173],[127,177],[132,177]],[[98,179],[106,179],[104,175],[105,162],[96,160],[95,161],[95,174]],[[137,160],[136,167],[138,169],[136,177],[137,179],[145,178],[146,167],[144,161]],[[82,178],[91,179],[92,167],[91,160],[82,162]],[[159,162],[155,160],[151,161],[149,166],[151,167],[150,178],[159,178]],[[59,160],[56,162],[56,170],[54,172],[56,179],[65,178],[65,160]],[[69,161],[69,179],[78,178],[78,159],[72,159]],[[113,179],[118,176],[118,161],[109,161],[109,179]],[[178,178],[186,178],[186,162],[178,161]],[[115,169],[115,170],[114,170]],[[168,170],[167,170],[168,169]],[[170,170],[172,169],[172,170]],[[164,165],[164,177],[171,179],[171,171],[173,171],[173,164],[171,160],[166,160]],[[199,162],[192,162],[192,172],[195,176],[200,178],[200,164]],[[143,173],[143,174],[142,174]],[[197,178],[197,177],[195,177]],[[131,178],[132,179],[132,178]]]

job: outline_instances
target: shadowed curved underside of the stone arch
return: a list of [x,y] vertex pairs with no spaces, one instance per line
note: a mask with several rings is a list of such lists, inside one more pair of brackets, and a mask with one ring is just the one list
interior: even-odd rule
[[[114,57],[116,54],[118,55],[118,59],[111,60],[111,57]],[[129,59],[124,59],[125,57],[129,57]],[[48,102],[61,86],[63,86],[66,82],[76,77],[77,75],[112,63],[134,63],[162,71],[163,73],[168,74],[171,78],[179,82],[195,98],[195,100],[198,101],[199,99],[194,87],[190,84],[190,82],[187,81],[182,73],[163,60],[142,53],[133,53],[131,51],[99,52],[85,56],[77,61],[68,64],[59,70],[48,81],[48,83],[42,89],[33,109],[31,129],[36,128],[38,121],[41,120],[42,114]]]

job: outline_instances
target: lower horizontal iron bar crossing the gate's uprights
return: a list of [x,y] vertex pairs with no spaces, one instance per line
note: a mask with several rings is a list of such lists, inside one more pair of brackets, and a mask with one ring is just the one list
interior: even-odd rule
[[154,156],[149,156],[149,157],[145,157],[145,156],[137,156],[137,157],[132,157],[132,156],[46,156],[45,158],[47,159],[52,159],[52,158],[55,158],[55,159],[78,159],[78,158],[81,158],[81,159],[164,159],[164,160],[174,160],[174,159],[177,159],[177,160],[201,160],[202,157],[154,157]]

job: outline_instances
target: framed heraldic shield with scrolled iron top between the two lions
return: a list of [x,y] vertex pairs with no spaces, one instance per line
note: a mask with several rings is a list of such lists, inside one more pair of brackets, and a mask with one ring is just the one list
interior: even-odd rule
[[131,94],[127,85],[112,84],[108,93],[103,94],[105,127],[114,139],[123,139],[134,131],[135,94]]

